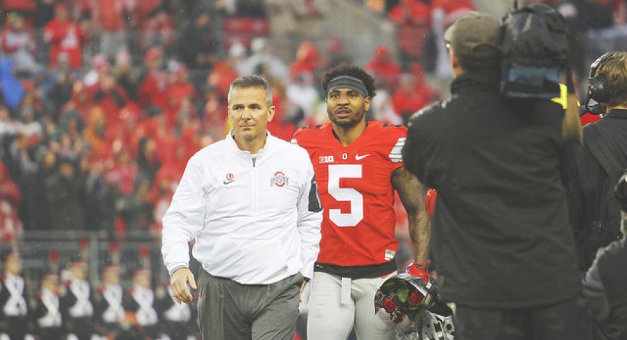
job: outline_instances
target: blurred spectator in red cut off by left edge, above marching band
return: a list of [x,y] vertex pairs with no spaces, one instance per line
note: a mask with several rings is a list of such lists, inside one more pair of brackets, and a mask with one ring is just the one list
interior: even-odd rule
[[9,177],[0,160],[0,243],[17,241],[22,233],[22,221],[17,209],[22,204],[22,192]]

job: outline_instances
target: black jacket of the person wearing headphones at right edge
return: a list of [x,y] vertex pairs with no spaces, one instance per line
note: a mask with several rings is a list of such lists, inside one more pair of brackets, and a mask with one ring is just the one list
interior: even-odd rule
[[627,168],[627,110],[612,110],[583,128],[583,146],[567,152],[565,182],[581,269],[621,238],[614,186]]

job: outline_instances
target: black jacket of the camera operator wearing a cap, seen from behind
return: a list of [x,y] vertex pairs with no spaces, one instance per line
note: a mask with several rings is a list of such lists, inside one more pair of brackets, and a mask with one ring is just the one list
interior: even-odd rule
[[403,160],[438,190],[431,250],[442,297],[517,308],[573,298],[581,284],[560,178],[562,108],[506,102],[464,74],[412,120]]

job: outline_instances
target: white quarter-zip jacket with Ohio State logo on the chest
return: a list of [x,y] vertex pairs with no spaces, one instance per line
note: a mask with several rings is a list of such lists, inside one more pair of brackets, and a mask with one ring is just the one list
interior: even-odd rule
[[322,207],[309,155],[268,133],[257,155],[232,133],[187,162],[163,218],[170,275],[192,255],[208,273],[241,284],[311,278],[320,250]]

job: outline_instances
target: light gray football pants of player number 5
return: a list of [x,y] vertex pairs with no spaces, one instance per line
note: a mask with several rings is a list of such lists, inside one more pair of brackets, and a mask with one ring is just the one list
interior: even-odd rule
[[311,280],[307,339],[345,340],[353,325],[359,340],[395,339],[393,323],[375,316],[375,293],[388,276],[350,280],[316,271]]

